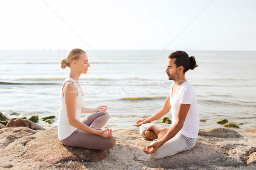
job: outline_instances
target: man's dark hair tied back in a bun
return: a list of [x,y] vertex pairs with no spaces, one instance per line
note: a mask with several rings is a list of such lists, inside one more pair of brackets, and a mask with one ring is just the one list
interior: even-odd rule
[[195,57],[189,57],[189,55],[186,54],[185,51],[175,51],[170,54],[168,58],[176,58],[174,63],[176,64],[176,67],[183,66],[183,73],[186,73],[186,71],[188,71],[189,69],[194,70],[198,66],[196,64]]

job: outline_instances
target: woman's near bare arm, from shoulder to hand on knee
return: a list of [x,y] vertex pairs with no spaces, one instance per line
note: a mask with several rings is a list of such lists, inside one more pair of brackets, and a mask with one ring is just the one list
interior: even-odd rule
[[[64,99],[65,99],[65,105],[66,105],[66,111],[67,111],[67,119],[71,126],[76,127],[77,129],[83,130],[85,132],[93,133],[95,135],[103,136],[105,138],[108,138],[112,135],[112,131],[109,129],[105,130],[95,130],[93,128],[88,127],[87,125],[84,125],[82,122],[76,119],[76,96],[77,91],[74,90],[75,85],[73,82],[69,81],[66,82],[63,91],[64,91]],[[108,131],[108,134],[105,134],[105,132]]]

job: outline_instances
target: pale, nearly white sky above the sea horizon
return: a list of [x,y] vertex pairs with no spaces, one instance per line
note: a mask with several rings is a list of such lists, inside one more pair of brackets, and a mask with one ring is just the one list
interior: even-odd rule
[[255,0],[0,0],[0,50],[256,51]]

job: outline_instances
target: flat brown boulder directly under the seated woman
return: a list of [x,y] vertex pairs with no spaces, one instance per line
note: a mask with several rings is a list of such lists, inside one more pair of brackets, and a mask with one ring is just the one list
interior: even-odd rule
[[62,161],[101,161],[108,156],[108,150],[90,150],[63,145],[58,134],[40,136],[26,144],[25,159],[58,164]]

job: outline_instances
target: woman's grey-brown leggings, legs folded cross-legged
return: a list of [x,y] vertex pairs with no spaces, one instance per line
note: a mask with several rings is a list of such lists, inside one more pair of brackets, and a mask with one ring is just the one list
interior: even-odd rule
[[[82,123],[93,129],[102,128],[107,121],[108,113],[105,111],[96,112],[81,119]],[[105,150],[115,146],[116,138],[114,136],[104,138],[102,136],[77,129],[66,139],[61,140],[61,143],[72,147]]]

